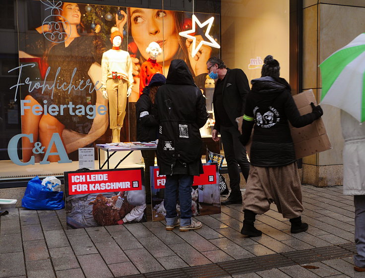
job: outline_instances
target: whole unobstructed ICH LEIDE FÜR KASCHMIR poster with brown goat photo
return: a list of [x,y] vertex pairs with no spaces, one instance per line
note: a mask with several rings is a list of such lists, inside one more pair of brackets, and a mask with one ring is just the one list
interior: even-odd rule
[[145,222],[143,168],[64,172],[68,229]]

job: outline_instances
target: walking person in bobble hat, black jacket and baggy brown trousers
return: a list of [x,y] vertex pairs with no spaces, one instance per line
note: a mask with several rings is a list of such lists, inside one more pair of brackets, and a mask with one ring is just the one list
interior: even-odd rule
[[247,144],[254,126],[241,230],[248,236],[261,235],[253,225],[255,216],[267,212],[273,202],[278,212],[289,218],[292,233],[308,229],[308,224],[301,220],[302,184],[289,122],[302,127],[319,118],[323,111],[311,103],[312,112],[301,116],[288,82],[279,77],[279,69],[279,62],[271,55],[266,56],[261,77],[251,81],[243,115],[240,137],[243,145]]

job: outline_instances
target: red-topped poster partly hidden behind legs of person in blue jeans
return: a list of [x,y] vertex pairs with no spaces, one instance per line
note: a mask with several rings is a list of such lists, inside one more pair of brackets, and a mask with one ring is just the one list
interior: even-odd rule
[[[159,167],[151,169],[152,220],[165,220],[164,190],[166,176],[159,175]],[[194,176],[191,190],[192,216],[221,213],[219,172],[216,164],[203,164],[204,173]],[[180,212],[179,204],[177,211]]]

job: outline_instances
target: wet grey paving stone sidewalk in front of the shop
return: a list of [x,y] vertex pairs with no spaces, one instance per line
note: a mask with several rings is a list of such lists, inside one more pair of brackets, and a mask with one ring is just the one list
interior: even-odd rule
[[[67,230],[64,210],[10,209],[0,218],[0,278],[218,277],[225,267],[235,269],[235,262],[251,262],[254,271],[225,271],[225,277],[365,277],[353,270],[353,197],[343,195],[342,186],[304,185],[303,201],[307,232],[291,234],[290,222],[273,205],[257,217],[263,234],[253,238],[240,233],[242,205],[196,217],[203,228],[189,232],[166,231],[164,222]],[[310,250],[324,252],[327,246],[344,252],[309,263],[291,259],[305,258]],[[265,265],[265,258],[271,265]],[[290,263],[280,265],[286,260]]]

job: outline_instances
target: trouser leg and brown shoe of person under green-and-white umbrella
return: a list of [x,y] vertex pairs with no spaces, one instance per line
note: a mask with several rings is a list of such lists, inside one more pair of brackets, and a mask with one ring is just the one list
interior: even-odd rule
[[365,195],[354,196],[355,244],[358,254],[354,256],[356,266],[365,268]]

